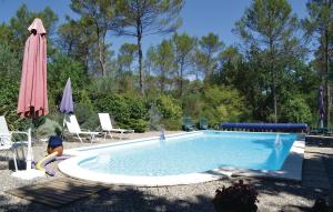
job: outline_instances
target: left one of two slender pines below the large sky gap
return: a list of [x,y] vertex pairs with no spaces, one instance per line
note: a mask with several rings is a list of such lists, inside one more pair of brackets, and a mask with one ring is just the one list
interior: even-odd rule
[[179,97],[183,94],[183,80],[186,75],[186,68],[191,63],[191,58],[196,46],[196,39],[190,37],[186,33],[178,34],[174,33],[172,37],[172,42],[174,44],[175,51],[175,67],[178,75],[178,90]]

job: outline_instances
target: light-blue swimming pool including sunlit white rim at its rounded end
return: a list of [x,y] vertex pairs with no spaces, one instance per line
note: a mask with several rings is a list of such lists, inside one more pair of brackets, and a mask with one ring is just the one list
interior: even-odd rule
[[196,180],[188,181],[201,182],[221,178],[228,169],[276,175],[296,139],[293,133],[201,131],[78,149],[81,155],[71,159],[74,162],[68,168],[62,164],[71,160],[59,168],[77,178],[113,183],[122,179],[124,184],[135,184],[135,179],[139,184],[183,184],[190,176]]

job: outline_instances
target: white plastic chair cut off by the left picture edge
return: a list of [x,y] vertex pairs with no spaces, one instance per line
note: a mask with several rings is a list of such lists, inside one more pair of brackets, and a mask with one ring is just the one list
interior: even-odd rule
[[[13,134],[24,134],[28,137],[28,132],[22,131],[9,131],[7,121],[3,115],[0,117],[0,151],[11,151],[12,152],[12,159],[14,162],[16,171],[18,171],[18,162],[17,162],[17,149],[19,145],[21,145],[23,142],[13,142],[12,135]],[[22,154],[24,155],[24,152],[22,150]]]

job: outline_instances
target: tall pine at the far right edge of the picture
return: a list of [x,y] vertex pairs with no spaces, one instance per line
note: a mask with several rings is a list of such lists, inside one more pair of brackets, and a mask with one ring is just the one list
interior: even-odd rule
[[331,122],[331,74],[330,63],[333,62],[333,0],[310,0],[306,3],[309,17],[303,20],[309,38],[316,38],[315,64],[325,85],[325,119]]

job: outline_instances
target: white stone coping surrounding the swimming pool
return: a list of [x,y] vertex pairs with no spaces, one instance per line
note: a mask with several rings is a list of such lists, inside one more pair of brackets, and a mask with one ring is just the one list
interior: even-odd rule
[[[167,135],[168,139],[174,137],[193,137],[195,134],[201,134],[203,132],[185,132]],[[264,132],[268,133],[268,132]],[[189,173],[189,174],[178,174],[178,175],[165,175],[165,176],[141,176],[141,175],[120,175],[120,174],[107,174],[99,173],[94,171],[89,171],[87,169],[78,165],[81,161],[89,158],[95,157],[98,153],[93,153],[91,150],[102,151],[105,148],[124,145],[124,144],[144,144],[149,141],[155,141],[159,137],[151,137],[147,139],[134,139],[121,142],[111,142],[107,144],[98,144],[92,147],[75,148],[65,150],[65,154],[74,155],[71,159],[62,161],[59,163],[58,168],[64,174],[82,180],[97,181],[110,184],[120,185],[139,185],[139,186],[162,186],[162,185],[178,185],[178,184],[193,184],[200,182],[208,182],[213,180],[219,180],[230,176],[253,176],[253,178],[273,178],[283,179],[292,181],[302,180],[302,163],[304,158],[305,141],[301,135],[294,141],[290,154],[285,159],[283,166],[279,171],[269,170],[251,170],[251,169],[235,169],[235,168],[218,168],[211,171],[201,173]]]

